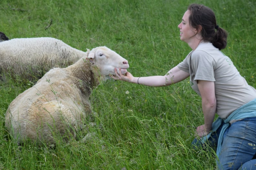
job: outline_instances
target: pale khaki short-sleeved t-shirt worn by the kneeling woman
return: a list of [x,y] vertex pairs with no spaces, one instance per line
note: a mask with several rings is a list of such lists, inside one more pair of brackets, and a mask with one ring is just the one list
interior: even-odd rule
[[216,113],[220,118],[227,118],[234,110],[256,98],[256,90],[248,85],[230,58],[210,42],[201,42],[178,64],[178,68],[190,74],[190,85],[198,95],[197,80],[214,81]]

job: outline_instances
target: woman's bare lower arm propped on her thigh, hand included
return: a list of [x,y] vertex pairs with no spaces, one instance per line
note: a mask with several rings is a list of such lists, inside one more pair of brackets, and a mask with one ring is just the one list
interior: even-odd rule
[[202,97],[204,125],[197,127],[199,137],[206,136],[212,128],[216,113],[216,97],[214,81],[197,80],[197,86]]

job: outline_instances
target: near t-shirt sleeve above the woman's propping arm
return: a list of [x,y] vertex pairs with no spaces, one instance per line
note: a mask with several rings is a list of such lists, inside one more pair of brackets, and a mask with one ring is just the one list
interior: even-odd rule
[[194,80],[215,81],[215,60],[207,52],[194,51],[191,55],[191,69],[195,73]]

